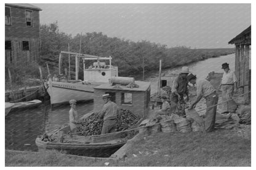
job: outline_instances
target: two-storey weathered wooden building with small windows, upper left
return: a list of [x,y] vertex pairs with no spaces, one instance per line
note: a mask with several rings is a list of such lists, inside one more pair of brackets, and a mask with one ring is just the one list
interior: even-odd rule
[[6,64],[38,60],[40,10],[31,4],[5,4]]

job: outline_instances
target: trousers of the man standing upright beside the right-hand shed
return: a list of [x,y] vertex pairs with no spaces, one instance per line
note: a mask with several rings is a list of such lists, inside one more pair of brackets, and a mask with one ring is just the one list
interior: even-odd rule
[[222,101],[230,100],[223,103],[222,112],[235,112],[237,104],[232,99],[234,95],[234,85],[222,85]]

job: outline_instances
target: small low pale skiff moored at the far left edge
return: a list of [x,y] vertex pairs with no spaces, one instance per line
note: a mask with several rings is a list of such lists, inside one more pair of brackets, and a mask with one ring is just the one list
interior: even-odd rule
[[38,99],[34,99],[32,101],[22,101],[22,102],[6,102],[5,104],[6,115],[9,114],[10,111],[38,107],[41,103],[42,101]]

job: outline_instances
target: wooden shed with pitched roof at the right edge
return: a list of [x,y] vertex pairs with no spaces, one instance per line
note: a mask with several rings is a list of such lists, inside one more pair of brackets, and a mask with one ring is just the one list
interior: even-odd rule
[[[251,26],[228,42],[228,44],[236,45],[235,74],[238,77],[238,87],[242,89],[242,93],[250,91],[250,37]],[[250,93],[244,95],[244,103],[250,103]]]

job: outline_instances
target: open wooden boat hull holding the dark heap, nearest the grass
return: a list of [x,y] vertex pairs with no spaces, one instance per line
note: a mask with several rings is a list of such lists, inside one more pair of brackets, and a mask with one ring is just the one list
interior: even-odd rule
[[[93,112],[86,114],[82,118],[89,117]],[[137,127],[142,119],[138,121]],[[121,131],[118,133],[101,134],[96,136],[73,136],[68,134],[70,126],[64,126],[61,129],[52,131],[48,137],[41,136],[36,138],[36,145],[39,152],[45,150],[60,150],[71,155],[109,157],[116,152],[127,140],[138,133],[138,130]],[[50,141],[45,139],[50,139]]]

